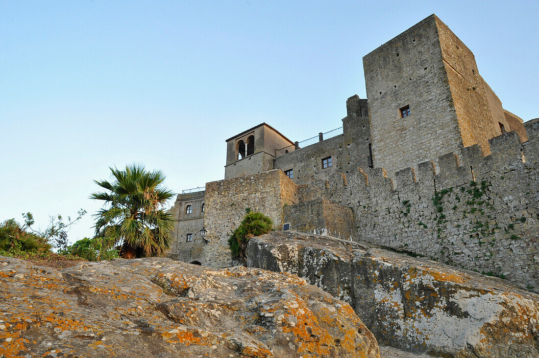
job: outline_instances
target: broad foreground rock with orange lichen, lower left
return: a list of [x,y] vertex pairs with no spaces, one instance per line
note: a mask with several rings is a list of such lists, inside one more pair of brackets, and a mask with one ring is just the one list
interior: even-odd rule
[[0,256],[0,357],[379,357],[352,308],[304,279],[164,258],[63,271]]

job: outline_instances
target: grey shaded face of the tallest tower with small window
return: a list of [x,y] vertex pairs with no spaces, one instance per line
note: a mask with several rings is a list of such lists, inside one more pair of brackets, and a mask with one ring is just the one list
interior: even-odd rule
[[[462,152],[444,56],[437,18],[430,16],[363,57],[374,165],[390,176]],[[410,115],[403,118],[405,106]]]

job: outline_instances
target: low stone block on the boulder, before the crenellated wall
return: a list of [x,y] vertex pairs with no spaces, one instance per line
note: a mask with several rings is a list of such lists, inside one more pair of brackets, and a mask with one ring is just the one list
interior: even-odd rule
[[284,208],[284,222],[302,233],[328,235],[351,240],[355,235],[354,214],[325,198],[303,201]]

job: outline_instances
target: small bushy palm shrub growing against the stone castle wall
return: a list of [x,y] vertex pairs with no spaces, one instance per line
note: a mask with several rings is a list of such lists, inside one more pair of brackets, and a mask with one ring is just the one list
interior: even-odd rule
[[273,221],[259,212],[247,210],[247,214],[229,238],[233,258],[245,262],[245,249],[251,237],[266,234],[273,230]]

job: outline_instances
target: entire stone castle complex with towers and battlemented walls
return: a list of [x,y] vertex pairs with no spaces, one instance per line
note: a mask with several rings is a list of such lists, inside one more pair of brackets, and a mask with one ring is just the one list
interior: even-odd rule
[[368,99],[347,100],[342,127],[293,142],[261,123],[227,139],[225,179],[179,194],[171,208],[169,256],[232,265],[227,239],[252,209],[277,229],[539,286],[539,122],[502,108],[473,53],[436,15],[363,65]]

